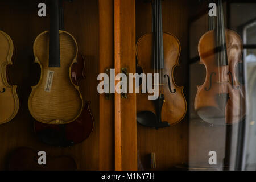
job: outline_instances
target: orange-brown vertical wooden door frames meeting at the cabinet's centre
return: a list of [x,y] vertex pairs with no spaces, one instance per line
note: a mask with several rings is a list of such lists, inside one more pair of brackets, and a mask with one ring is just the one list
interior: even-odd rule
[[[99,12],[100,73],[135,73],[135,0],[99,0]],[[136,94],[100,95],[100,170],[137,170],[135,105]]]

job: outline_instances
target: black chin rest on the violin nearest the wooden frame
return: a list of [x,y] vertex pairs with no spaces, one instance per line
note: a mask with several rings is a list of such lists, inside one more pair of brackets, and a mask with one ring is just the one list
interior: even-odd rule
[[142,111],[140,113],[137,113],[137,122],[142,126],[154,127],[155,129],[170,126],[170,124],[166,121],[158,122],[158,118],[151,111]]

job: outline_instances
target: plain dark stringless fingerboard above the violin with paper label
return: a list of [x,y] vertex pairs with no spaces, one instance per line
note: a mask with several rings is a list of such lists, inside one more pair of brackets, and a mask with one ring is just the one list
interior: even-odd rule
[[60,67],[59,0],[52,0],[50,8],[49,67]]

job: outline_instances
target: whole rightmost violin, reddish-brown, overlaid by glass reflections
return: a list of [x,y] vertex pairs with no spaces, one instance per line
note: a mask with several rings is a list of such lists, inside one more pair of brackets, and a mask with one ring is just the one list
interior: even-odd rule
[[245,86],[239,82],[242,63],[240,36],[225,29],[222,0],[217,0],[217,18],[209,19],[209,31],[199,41],[200,64],[207,70],[205,82],[197,86],[195,111],[205,122],[233,124],[245,117]]

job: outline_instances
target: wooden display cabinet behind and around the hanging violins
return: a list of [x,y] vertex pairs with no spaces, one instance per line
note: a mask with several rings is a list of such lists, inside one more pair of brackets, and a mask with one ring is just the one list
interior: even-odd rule
[[[16,117],[0,125],[0,170],[6,169],[11,152],[21,146],[54,156],[70,155],[76,159],[79,170],[170,170],[188,164],[187,115],[174,126],[150,129],[136,122],[136,94],[123,97],[115,93],[107,99],[105,94],[97,92],[99,73],[110,68],[115,68],[115,74],[124,69],[136,72],[136,42],[152,29],[151,3],[145,0],[64,1],[65,30],[75,37],[85,56],[86,78],[81,81],[80,89],[84,100],[91,101],[94,130],[84,142],[67,148],[48,146],[36,138],[27,101],[31,86],[40,77],[40,68],[34,64],[33,43],[36,36],[49,30],[48,10],[46,17],[38,16],[38,4],[46,1],[0,2],[0,30],[9,34],[16,48],[16,60],[10,71],[20,98]],[[174,69],[174,80],[178,86],[184,86],[188,107],[191,102],[188,22],[200,10],[194,2],[162,1],[163,31],[180,40],[181,55],[179,66]]]

